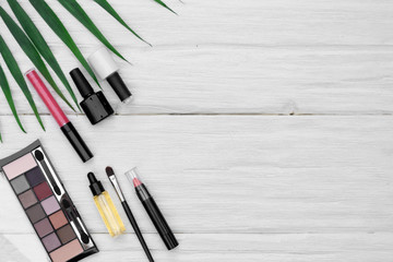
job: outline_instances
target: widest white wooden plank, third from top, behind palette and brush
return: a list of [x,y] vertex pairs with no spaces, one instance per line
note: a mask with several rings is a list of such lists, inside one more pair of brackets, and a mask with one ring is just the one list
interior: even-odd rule
[[[11,122],[12,117],[4,117]],[[23,119],[27,130],[33,117]],[[72,117],[95,153],[82,164],[45,117],[47,133],[3,133],[1,156],[41,138],[66,187],[94,233],[105,233],[86,174],[114,193],[115,167],[141,227],[147,215],[122,175],[139,166],[176,233],[374,233],[392,228],[390,116],[381,117],[115,117],[92,127]],[[4,121],[4,120],[1,120]],[[4,123],[4,122],[2,122]],[[50,139],[49,139],[50,138]],[[5,182],[0,233],[31,231]],[[117,200],[116,200],[117,201]],[[122,213],[122,211],[121,211]],[[15,217],[15,214],[21,214]],[[122,213],[123,214],[123,213]]]

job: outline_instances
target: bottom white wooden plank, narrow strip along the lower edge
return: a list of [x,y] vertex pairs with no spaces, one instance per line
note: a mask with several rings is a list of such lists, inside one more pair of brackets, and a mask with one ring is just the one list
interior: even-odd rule
[[[388,262],[392,257],[390,234],[180,234],[180,246],[168,252],[157,235],[146,234],[157,261],[349,261]],[[144,261],[133,235],[111,239],[94,234],[100,249],[86,261]],[[41,261],[46,254],[33,234],[0,235],[0,255],[11,261]],[[28,245],[26,245],[28,243]],[[11,252],[10,252],[11,251]]]

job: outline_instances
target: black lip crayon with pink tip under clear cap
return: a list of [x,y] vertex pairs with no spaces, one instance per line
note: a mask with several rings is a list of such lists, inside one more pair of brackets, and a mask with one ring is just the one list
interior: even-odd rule
[[179,246],[179,242],[177,241],[163,213],[159,211],[158,205],[154,201],[153,196],[150,194],[147,188],[144,186],[143,182],[141,182],[136,167],[127,171],[126,176],[129,181],[135,187],[138,198],[141,200],[143,206],[145,207],[150,218],[152,219],[167,249],[175,249],[177,246]]

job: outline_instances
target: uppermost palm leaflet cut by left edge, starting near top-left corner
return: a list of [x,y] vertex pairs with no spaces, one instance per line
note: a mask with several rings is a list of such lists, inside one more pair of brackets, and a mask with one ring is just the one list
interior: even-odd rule
[[[60,88],[57,86],[55,80],[51,78],[47,67],[45,66],[41,57],[39,56],[37,49],[34,47],[33,43],[28,39],[25,33],[21,27],[11,19],[11,16],[5,12],[4,9],[0,7],[0,16],[4,21],[7,27],[14,36],[17,44],[21,46],[22,50],[26,53],[29,60],[38,69],[38,71],[44,75],[48,83],[53,87],[56,93],[73,109],[72,105],[68,102],[66,96],[62,94]],[[74,110],[74,109],[73,109]]]

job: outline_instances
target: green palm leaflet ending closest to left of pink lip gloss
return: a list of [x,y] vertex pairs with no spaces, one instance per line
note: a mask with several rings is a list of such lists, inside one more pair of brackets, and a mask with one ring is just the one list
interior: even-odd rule
[[22,71],[20,69],[20,67],[17,66],[17,62],[15,60],[15,58],[12,56],[12,52],[10,50],[10,48],[7,46],[4,39],[2,38],[2,36],[0,35],[0,53],[4,59],[4,62],[7,64],[7,67],[9,68],[12,76],[14,78],[14,80],[16,81],[17,85],[21,87],[23,94],[25,95],[28,104],[31,105],[34,115],[36,116],[39,124],[41,126],[41,128],[45,130],[43,120],[39,117],[37,107],[34,103],[32,93],[29,92],[27,84],[23,78]]

